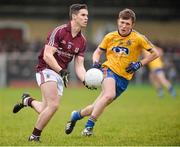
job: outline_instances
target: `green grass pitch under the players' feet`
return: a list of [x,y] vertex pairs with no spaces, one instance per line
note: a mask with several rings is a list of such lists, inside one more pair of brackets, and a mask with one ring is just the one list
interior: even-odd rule
[[[177,91],[180,89],[176,86]],[[99,90],[68,88],[64,91],[59,110],[44,129],[41,143],[28,142],[37,119],[31,108],[17,114],[13,105],[22,92],[40,97],[40,90],[0,89],[0,145],[1,146],[171,146],[180,145],[180,93],[173,99],[165,93],[156,96],[148,86],[130,85],[128,89],[104,111],[94,128],[94,136],[81,136],[87,118],[77,122],[72,134],[64,133],[72,110],[83,108],[95,100]],[[178,91],[179,92],[179,91]]]

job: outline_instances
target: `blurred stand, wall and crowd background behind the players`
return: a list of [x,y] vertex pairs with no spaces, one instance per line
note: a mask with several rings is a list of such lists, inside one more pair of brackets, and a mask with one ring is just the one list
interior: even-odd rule
[[[136,12],[135,29],[164,51],[167,77],[180,83],[180,3],[178,0],[1,0],[0,1],[0,87],[33,86],[35,65],[49,31],[69,20],[69,6],[85,3],[89,23],[85,67],[103,36],[116,30],[120,10]],[[70,64],[70,81],[78,80]],[[148,83],[148,68],[138,71],[133,83]]]

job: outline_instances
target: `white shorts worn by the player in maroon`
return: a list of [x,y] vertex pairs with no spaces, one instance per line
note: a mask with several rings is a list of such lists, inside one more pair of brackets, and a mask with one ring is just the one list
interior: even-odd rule
[[36,81],[38,85],[48,82],[55,81],[57,82],[58,95],[62,96],[63,94],[63,80],[59,74],[51,69],[44,69],[43,71],[36,73]]

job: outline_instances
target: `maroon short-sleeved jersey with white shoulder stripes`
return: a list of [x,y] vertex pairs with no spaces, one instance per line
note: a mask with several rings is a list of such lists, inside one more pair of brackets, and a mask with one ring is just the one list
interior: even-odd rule
[[[79,32],[74,38],[71,35],[71,24],[58,26],[47,37],[46,44],[57,48],[54,54],[59,66],[66,69],[68,63],[72,61],[75,55],[84,57],[86,49],[86,39]],[[44,48],[38,57],[36,71],[42,71],[45,68],[51,67],[43,59]]]

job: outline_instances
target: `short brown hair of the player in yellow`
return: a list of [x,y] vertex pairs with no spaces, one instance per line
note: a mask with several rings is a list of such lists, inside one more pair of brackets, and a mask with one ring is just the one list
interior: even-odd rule
[[133,10],[126,8],[119,12],[119,18],[125,20],[131,19],[132,22],[134,23],[136,21],[136,14],[134,13]]

